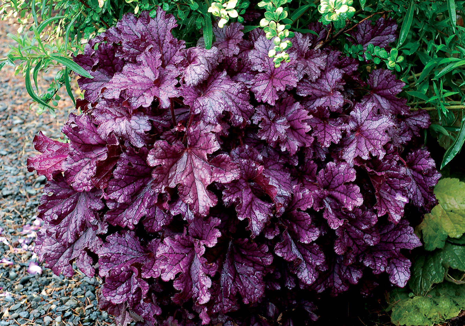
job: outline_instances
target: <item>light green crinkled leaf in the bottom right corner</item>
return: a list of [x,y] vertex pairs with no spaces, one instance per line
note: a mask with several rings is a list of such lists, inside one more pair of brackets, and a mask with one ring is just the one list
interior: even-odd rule
[[390,293],[391,321],[395,325],[433,325],[457,317],[465,308],[465,285],[444,282],[435,286],[427,296],[410,298],[405,289]]

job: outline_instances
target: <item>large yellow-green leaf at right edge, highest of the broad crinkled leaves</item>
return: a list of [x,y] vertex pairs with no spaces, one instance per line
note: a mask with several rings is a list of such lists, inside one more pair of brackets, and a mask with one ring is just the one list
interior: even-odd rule
[[454,178],[439,180],[434,194],[439,204],[419,225],[426,250],[442,248],[447,236],[459,238],[465,233],[465,183]]

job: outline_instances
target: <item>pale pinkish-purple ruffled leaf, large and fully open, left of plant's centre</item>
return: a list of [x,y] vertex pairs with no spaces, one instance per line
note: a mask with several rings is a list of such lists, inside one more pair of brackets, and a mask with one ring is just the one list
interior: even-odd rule
[[147,162],[158,166],[153,170],[154,190],[166,192],[166,188],[178,186],[179,197],[189,204],[196,216],[206,216],[218,202],[206,189],[213,182],[228,183],[239,177],[239,169],[227,154],[212,159],[207,154],[220,146],[213,132],[217,127],[199,123],[187,132],[187,147],[180,143],[170,145],[165,140],[155,142]]

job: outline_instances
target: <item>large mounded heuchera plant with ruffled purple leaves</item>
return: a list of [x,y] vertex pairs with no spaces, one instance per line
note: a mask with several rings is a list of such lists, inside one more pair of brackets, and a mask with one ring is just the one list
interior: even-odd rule
[[[387,46],[393,24],[354,37]],[[363,82],[356,60],[314,49],[318,26],[279,68],[259,30],[233,23],[206,50],[173,27],[161,9],[126,14],[75,57],[94,78],[78,80],[69,144],[40,133],[28,159],[48,179],[46,266],[99,273],[100,306],[125,326],[292,324],[316,319],[310,291],[368,294],[382,273],[405,286],[402,249],[420,241],[404,206],[434,201],[439,174],[404,83],[383,69]]]

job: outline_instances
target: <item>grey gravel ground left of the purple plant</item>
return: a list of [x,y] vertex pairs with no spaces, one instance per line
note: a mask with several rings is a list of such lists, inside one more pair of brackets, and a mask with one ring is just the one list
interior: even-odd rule
[[[0,21],[0,57],[14,44],[7,33],[17,28]],[[47,87],[52,78],[53,74],[39,78],[40,87]],[[60,101],[56,118],[38,115],[29,110],[23,77],[14,76],[12,67],[0,71],[0,326],[114,326],[113,318],[98,309],[95,296],[101,279],[80,273],[71,279],[58,277],[37,264],[33,253],[40,228],[37,206],[46,179],[27,172],[26,160],[38,153],[32,141],[40,130],[52,138],[62,136],[61,126],[73,104],[65,93],[60,96],[67,100]]]

